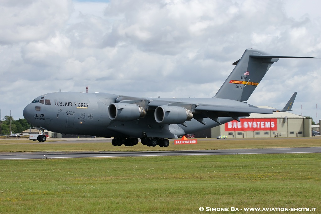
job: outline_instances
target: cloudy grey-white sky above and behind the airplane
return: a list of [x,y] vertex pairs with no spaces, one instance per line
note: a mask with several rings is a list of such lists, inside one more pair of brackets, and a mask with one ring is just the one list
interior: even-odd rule
[[[321,57],[314,0],[1,0],[0,108],[56,91],[210,98],[247,48]],[[321,119],[321,59],[280,59],[248,99]]]

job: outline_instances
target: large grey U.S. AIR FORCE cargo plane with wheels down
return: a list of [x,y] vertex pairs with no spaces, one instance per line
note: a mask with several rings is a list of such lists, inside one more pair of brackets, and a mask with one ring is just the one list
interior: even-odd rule
[[42,131],[114,137],[114,146],[168,147],[177,139],[251,113],[291,111],[295,92],[283,109],[259,108],[247,103],[271,65],[280,58],[261,50],[246,49],[221,88],[212,98],[142,98],[109,93],[53,92],[35,98],[23,110],[25,119]]

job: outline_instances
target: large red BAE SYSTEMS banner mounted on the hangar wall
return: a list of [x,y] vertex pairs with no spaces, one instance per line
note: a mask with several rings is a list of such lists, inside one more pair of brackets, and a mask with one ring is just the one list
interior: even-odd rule
[[225,124],[225,131],[276,131],[276,118],[243,118]]

